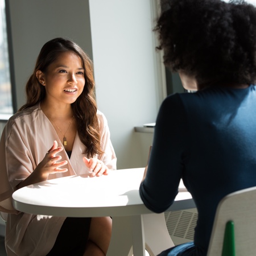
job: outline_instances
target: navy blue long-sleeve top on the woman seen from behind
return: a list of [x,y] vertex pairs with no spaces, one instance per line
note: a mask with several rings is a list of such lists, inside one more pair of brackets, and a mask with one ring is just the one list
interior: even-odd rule
[[206,255],[218,202],[228,193],[256,186],[255,86],[168,96],[152,145],[141,198],[147,208],[164,212],[182,178],[199,213],[197,254],[191,255]]

